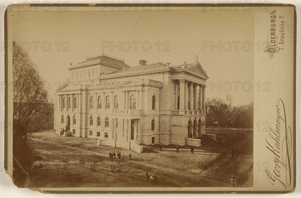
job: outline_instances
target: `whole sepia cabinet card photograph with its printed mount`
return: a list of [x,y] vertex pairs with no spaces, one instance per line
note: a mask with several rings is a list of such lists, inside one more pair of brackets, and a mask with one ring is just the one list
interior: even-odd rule
[[[282,72],[293,75],[293,11],[11,5],[2,48],[12,65],[6,169],[14,185],[44,192],[269,190],[260,182],[291,189],[293,86],[281,93],[288,100],[274,97],[285,79],[277,80],[283,87],[269,80],[280,70],[259,61],[290,52]],[[279,102],[288,103],[287,121]]]

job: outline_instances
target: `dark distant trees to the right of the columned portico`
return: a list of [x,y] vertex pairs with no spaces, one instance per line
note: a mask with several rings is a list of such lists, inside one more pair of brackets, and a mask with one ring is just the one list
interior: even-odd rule
[[206,127],[253,128],[253,102],[247,105],[233,106],[233,97],[207,98]]

